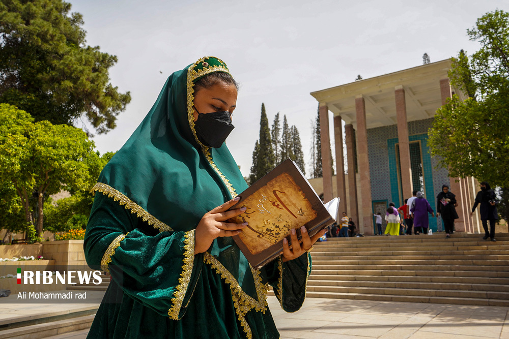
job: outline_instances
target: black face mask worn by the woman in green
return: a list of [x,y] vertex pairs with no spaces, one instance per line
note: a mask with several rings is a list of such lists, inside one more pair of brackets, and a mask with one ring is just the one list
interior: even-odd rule
[[[194,106],[193,106],[194,107]],[[196,107],[194,107],[196,109]],[[196,109],[196,112],[198,110]],[[219,148],[230,135],[235,126],[232,125],[230,112],[200,113],[194,121],[196,136],[201,143],[208,147]]]

